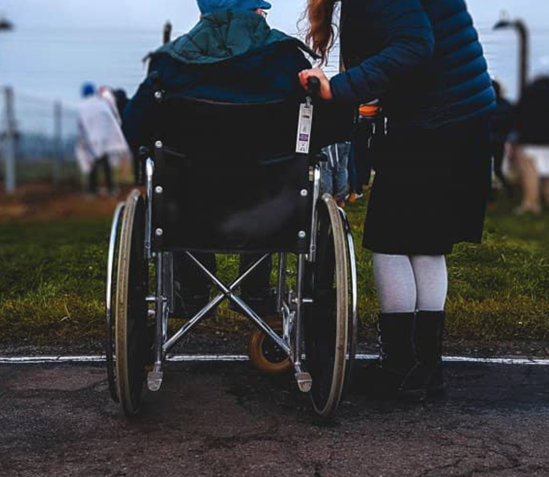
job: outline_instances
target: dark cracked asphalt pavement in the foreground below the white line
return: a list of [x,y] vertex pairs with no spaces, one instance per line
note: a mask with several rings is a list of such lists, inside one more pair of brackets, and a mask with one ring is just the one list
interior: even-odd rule
[[549,367],[446,375],[443,400],[351,395],[322,423],[288,378],[170,364],[127,421],[99,365],[0,365],[0,475],[549,476]]

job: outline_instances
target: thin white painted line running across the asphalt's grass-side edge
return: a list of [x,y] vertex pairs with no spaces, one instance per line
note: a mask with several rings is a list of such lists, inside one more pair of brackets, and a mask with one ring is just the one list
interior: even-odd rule
[[[377,354],[357,354],[359,361],[376,359]],[[245,354],[180,354],[166,358],[172,363],[197,362],[237,362],[248,361]],[[0,364],[55,364],[55,363],[103,363],[105,356],[0,356]],[[549,359],[534,358],[469,358],[464,356],[445,356],[447,363],[477,363],[502,365],[549,366]]]

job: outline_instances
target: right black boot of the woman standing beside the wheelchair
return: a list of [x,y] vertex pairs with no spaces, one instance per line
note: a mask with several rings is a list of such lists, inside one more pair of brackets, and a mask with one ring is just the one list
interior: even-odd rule
[[444,391],[442,373],[442,340],[444,312],[423,312],[416,315],[416,357],[419,367],[414,371],[415,380],[423,380],[429,395]]

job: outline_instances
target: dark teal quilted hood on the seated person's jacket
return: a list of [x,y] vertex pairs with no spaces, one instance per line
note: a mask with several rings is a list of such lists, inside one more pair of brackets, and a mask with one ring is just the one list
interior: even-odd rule
[[297,48],[316,58],[304,43],[282,31],[271,29],[265,19],[255,12],[216,10],[203,15],[188,34],[167,43],[153,57],[169,54],[186,64],[212,64],[282,42],[295,43]]

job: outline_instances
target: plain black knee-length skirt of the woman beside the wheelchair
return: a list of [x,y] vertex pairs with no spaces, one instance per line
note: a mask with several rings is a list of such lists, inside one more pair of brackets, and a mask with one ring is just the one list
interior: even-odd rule
[[394,126],[377,141],[365,248],[442,255],[458,242],[480,243],[491,188],[488,119],[433,130]]

